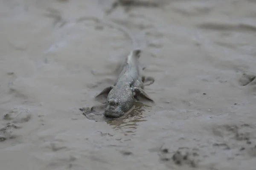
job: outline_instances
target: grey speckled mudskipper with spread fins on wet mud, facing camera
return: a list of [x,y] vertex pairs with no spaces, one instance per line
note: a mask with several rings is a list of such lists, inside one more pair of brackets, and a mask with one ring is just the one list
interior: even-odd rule
[[143,90],[143,78],[140,77],[138,59],[141,50],[131,51],[122,65],[122,71],[113,86],[105,88],[95,99],[106,96],[105,112],[106,117],[118,118],[131,109],[135,99],[139,96],[148,101],[154,102]]

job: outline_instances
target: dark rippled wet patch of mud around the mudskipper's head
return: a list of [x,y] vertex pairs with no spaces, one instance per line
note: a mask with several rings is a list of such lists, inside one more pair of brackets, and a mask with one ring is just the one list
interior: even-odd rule
[[80,111],[83,112],[87,119],[94,120],[96,122],[107,122],[109,125],[114,125],[114,129],[122,130],[122,132],[124,132],[123,128],[128,129],[128,131],[124,133],[134,133],[134,130],[137,129],[137,122],[146,121],[143,119],[147,117],[143,116],[143,113],[145,112],[143,106],[151,108],[149,105],[145,105],[141,102],[135,102],[134,108],[120,118],[105,117],[103,115],[104,105],[93,106],[92,108],[80,108]]

